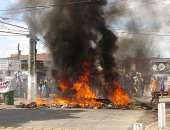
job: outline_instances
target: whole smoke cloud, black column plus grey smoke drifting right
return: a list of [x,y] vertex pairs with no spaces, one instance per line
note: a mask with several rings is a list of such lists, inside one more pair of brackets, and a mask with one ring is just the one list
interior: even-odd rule
[[[134,9],[127,8],[127,4]],[[28,11],[23,17],[34,34],[42,35],[48,44],[55,77],[63,75],[73,80],[82,73],[82,63],[87,61],[92,73],[99,68],[106,80],[112,80],[117,76],[113,72],[114,56],[147,58],[154,54],[152,36],[140,35],[159,29],[156,9],[149,1],[20,0],[18,4],[21,7],[41,5],[52,7]],[[119,26],[118,23],[134,33],[119,35],[119,49],[115,54],[117,38],[106,24]]]

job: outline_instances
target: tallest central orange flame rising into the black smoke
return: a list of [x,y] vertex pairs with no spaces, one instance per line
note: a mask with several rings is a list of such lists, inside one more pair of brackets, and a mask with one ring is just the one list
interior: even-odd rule
[[96,94],[89,86],[90,72],[89,64],[83,63],[84,73],[79,77],[78,81],[73,83],[72,89],[75,91],[74,100],[72,104],[79,105],[80,107],[100,107],[101,102],[96,101]]

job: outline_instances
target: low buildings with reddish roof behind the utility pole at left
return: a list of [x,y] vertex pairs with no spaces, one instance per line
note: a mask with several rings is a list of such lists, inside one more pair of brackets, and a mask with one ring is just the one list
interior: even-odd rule
[[[27,98],[27,86],[28,86],[28,55],[12,54],[8,58],[0,58],[0,80],[5,80],[6,77],[15,78],[16,97]],[[48,65],[49,55],[47,53],[37,54],[36,56],[36,74],[37,83],[40,80],[48,79]]]

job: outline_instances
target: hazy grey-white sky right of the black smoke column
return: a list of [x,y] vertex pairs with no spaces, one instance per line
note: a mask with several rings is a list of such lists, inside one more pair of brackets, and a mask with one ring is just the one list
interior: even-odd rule
[[[169,0],[128,0],[127,14],[125,14],[121,20],[118,20],[114,26],[115,28],[119,27],[122,30],[128,30],[130,32],[138,32],[140,30],[142,33],[152,34],[141,35],[142,37],[149,37],[146,47],[148,50],[154,50],[151,57],[160,56],[170,58],[169,6]],[[137,23],[137,28],[135,28],[134,24],[131,24],[131,28],[134,28],[133,30],[129,29],[129,25],[127,24],[128,19],[134,19]],[[161,36],[159,34],[161,34]],[[122,37],[120,33],[119,36]],[[131,46],[130,49],[133,49],[134,45]],[[119,48],[118,51],[120,50]],[[125,51],[127,51],[127,49],[125,49]]]

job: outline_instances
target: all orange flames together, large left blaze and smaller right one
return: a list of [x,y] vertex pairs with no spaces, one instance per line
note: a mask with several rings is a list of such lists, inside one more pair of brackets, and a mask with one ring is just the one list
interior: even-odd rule
[[[57,105],[67,107],[82,107],[82,108],[100,108],[103,103],[97,101],[97,96],[90,86],[90,72],[89,64],[83,63],[83,74],[74,83],[69,83],[67,80],[59,81],[59,90],[64,93],[67,90],[72,92],[71,97],[56,96],[53,99],[35,100],[37,106],[42,105]],[[112,89],[114,88],[114,89]],[[113,82],[113,87],[109,89],[107,98],[114,106],[126,106],[129,104],[130,99],[128,94],[122,89],[117,81]]]

